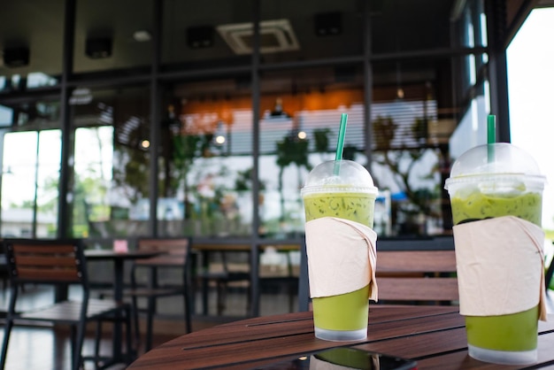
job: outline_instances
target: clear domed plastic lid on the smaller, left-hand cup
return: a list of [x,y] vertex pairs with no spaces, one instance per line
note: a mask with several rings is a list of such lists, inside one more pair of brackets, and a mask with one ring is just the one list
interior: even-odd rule
[[[338,166],[338,169],[337,169]],[[377,194],[373,178],[364,166],[351,160],[330,160],[315,166],[308,174],[301,193],[348,191]]]

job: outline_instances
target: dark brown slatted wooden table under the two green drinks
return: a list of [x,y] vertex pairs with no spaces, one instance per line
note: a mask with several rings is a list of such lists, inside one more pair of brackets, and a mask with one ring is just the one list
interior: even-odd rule
[[[538,357],[544,366],[554,364],[554,315],[550,314],[549,319],[539,322]],[[367,339],[350,343],[368,351],[416,359],[419,370],[523,367],[498,366],[470,358],[464,318],[456,306],[371,305]],[[182,335],[145,353],[128,368],[245,369],[345,344],[348,342],[315,338],[312,312],[296,312],[235,321]]]

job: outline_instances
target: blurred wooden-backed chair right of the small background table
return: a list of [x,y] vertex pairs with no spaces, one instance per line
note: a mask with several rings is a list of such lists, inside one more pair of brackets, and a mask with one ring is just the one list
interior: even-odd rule
[[[190,239],[178,238],[141,238],[137,241],[139,251],[161,251],[163,254],[146,259],[137,259],[131,271],[131,289],[124,291],[125,297],[131,297],[135,308],[135,328],[138,328],[138,312],[146,312],[146,340],[145,351],[152,346],[152,328],[154,315],[157,313],[158,298],[182,296],[184,320],[188,333],[192,331],[190,319],[191,297],[189,296],[189,256]],[[161,273],[177,272],[180,276],[178,283],[163,283]],[[146,281],[139,281],[142,273],[146,273]],[[144,276],[144,274],[142,274]],[[141,308],[139,299],[146,299],[146,308]]]

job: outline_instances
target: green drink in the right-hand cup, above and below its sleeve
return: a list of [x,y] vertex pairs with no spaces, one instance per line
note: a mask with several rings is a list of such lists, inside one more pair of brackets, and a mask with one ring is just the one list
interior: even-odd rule
[[[454,225],[469,220],[515,216],[541,226],[542,196],[493,197],[474,191],[451,197]],[[467,343],[495,351],[532,351],[537,345],[538,306],[501,316],[466,316]]]

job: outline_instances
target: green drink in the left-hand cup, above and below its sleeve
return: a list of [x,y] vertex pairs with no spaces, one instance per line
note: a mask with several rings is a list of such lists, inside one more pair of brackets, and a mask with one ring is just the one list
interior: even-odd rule
[[[306,221],[337,217],[373,227],[375,195],[366,193],[319,193],[304,197]],[[332,297],[312,299],[316,328],[359,330],[367,327],[369,285]]]

